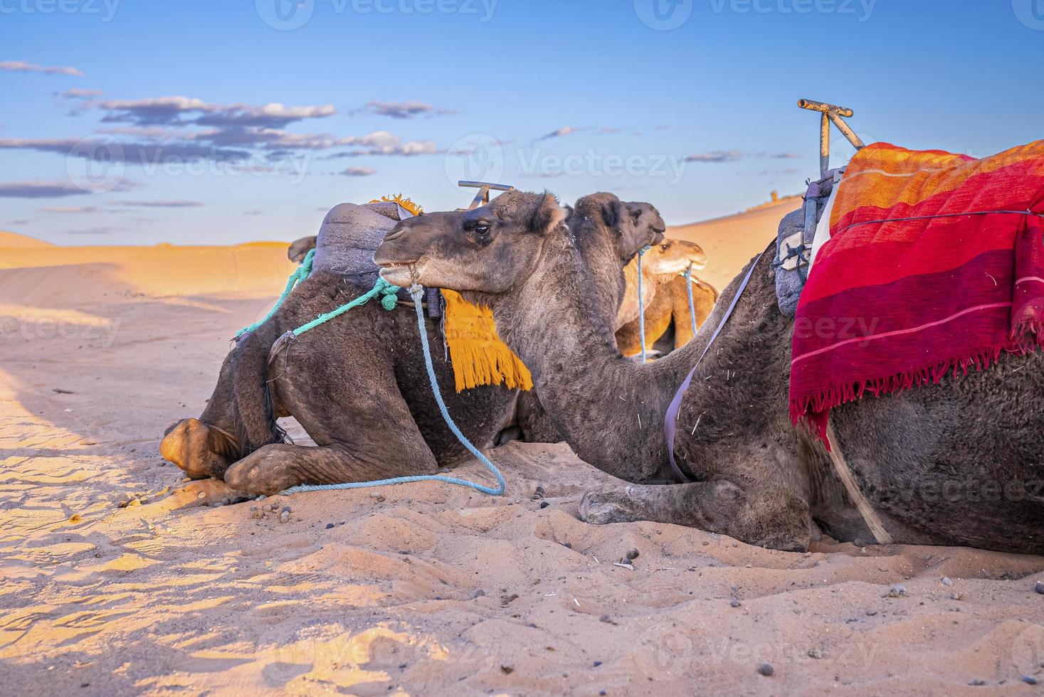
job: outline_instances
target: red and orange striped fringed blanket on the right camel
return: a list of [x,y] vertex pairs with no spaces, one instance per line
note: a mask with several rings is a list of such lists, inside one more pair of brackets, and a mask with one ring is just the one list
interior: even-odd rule
[[790,415],[1044,345],[1044,141],[976,160],[878,143],[849,164],[794,317]]

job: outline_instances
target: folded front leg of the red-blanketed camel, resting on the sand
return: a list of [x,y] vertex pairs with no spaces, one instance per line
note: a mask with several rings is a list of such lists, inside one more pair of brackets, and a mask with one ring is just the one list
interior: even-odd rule
[[808,548],[812,523],[808,503],[799,497],[781,490],[744,490],[723,480],[588,491],[579,512],[580,520],[595,525],[673,523],[788,551]]

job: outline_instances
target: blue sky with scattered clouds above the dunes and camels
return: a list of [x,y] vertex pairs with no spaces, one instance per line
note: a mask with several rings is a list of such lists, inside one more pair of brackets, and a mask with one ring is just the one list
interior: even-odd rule
[[292,240],[460,178],[681,224],[803,190],[799,98],[983,157],[1044,137],[1042,74],[1044,0],[0,0],[0,230]]

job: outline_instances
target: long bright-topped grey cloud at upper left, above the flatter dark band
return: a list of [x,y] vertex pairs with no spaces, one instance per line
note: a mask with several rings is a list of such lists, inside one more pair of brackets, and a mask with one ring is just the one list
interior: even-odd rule
[[106,100],[98,107],[109,112],[104,123],[133,123],[140,126],[158,124],[197,124],[208,126],[262,126],[282,128],[294,121],[333,116],[332,104],[323,106],[286,106],[268,104],[212,104],[191,97],[152,97],[134,100]]

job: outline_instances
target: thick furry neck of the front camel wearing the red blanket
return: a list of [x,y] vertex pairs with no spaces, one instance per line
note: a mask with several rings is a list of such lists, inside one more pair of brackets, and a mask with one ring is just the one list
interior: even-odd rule
[[568,236],[545,241],[523,287],[492,304],[497,331],[583,460],[632,481],[662,477],[663,418],[686,363],[640,365],[620,355],[585,261]]

